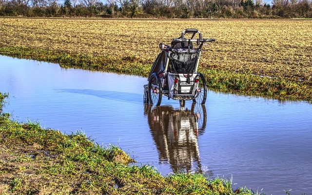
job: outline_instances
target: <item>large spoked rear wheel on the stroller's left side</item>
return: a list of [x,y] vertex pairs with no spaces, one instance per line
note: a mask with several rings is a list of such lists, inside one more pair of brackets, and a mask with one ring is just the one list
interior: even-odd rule
[[159,106],[162,97],[162,88],[160,78],[156,73],[153,73],[148,82],[148,97],[150,104]]

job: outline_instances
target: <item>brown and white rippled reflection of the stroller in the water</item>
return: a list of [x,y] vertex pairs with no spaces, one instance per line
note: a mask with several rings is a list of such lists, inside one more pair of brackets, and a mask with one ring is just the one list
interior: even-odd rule
[[146,105],[144,114],[156,143],[159,161],[169,162],[174,172],[202,173],[198,136],[206,128],[205,105],[193,104],[191,110]]

